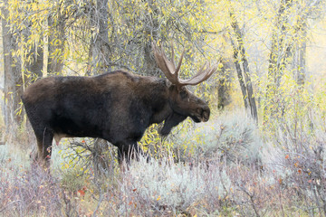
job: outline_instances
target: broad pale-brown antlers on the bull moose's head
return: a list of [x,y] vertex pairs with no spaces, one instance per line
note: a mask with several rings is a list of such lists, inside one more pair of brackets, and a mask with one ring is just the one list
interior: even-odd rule
[[181,80],[178,78],[178,71],[180,71],[182,59],[184,52],[182,52],[180,60],[178,61],[177,68],[176,64],[174,62],[174,50],[173,50],[173,44],[171,44],[172,47],[172,55],[171,55],[171,61],[168,60],[165,52],[163,51],[163,48],[159,48],[155,45],[154,42],[152,42],[152,48],[154,52],[155,61],[158,64],[158,68],[163,71],[163,73],[166,75],[169,81],[171,81],[173,84],[175,84],[177,87],[182,87],[185,85],[197,85],[200,82],[203,82],[204,80],[207,80],[217,69],[217,64],[214,64],[212,67],[209,66],[209,63],[205,63],[199,71],[197,71],[197,74],[188,80]]

